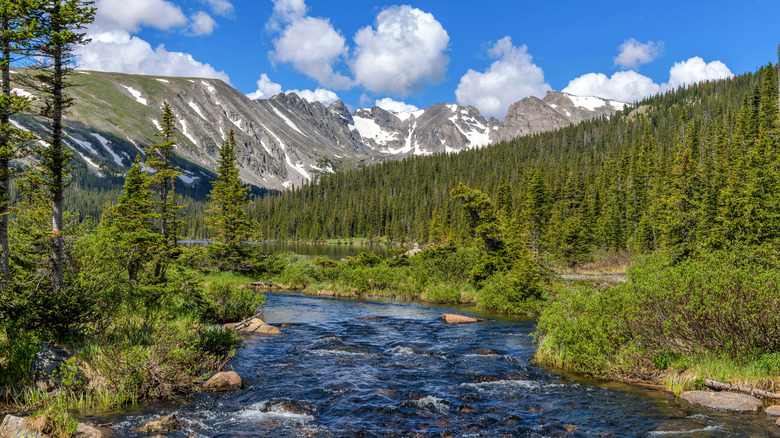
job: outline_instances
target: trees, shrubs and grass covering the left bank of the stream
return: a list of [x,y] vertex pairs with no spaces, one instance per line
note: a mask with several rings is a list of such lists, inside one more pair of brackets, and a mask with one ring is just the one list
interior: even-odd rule
[[[38,432],[69,437],[74,409],[116,408],[198,390],[240,339],[219,323],[252,316],[264,302],[241,273],[252,269],[239,242],[248,235],[247,190],[235,169],[232,133],[221,149],[209,198],[209,226],[219,238],[202,266],[182,257],[174,181],[176,132],[162,110],[160,142],[139,154],[118,199],[97,224],[63,210],[70,151],[62,116],[72,101],[70,54],[85,42],[91,2],[12,1],[0,5],[6,58],[0,99],[0,401],[29,413]],[[9,24],[10,23],[10,24]],[[15,33],[16,32],[16,33]],[[35,61],[15,80],[42,88],[35,98],[11,94],[10,62]],[[18,68],[18,67],[17,67]],[[52,97],[52,94],[54,97]],[[8,115],[42,121],[46,147]],[[13,166],[25,159],[29,166]],[[10,190],[13,179],[14,191]],[[12,199],[13,194],[13,199]],[[11,202],[13,200],[13,202]],[[10,213],[10,214],[9,214]],[[247,260],[235,266],[230,260]],[[227,261],[227,262],[226,262]],[[200,267],[202,267],[200,266]]]

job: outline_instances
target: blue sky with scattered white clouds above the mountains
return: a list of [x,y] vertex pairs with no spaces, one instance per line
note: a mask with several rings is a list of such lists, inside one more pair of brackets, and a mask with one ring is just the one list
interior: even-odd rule
[[[351,108],[547,90],[633,101],[775,61],[780,2],[99,0],[90,70],[206,76]],[[260,81],[258,83],[258,81]]]

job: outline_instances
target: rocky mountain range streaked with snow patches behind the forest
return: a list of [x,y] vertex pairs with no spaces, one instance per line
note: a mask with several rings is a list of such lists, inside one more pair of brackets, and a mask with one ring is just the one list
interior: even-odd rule
[[[412,155],[455,153],[599,116],[627,104],[550,92],[510,107],[505,121],[485,120],[473,106],[438,103],[414,112],[379,107],[350,113],[280,93],[251,100],[215,79],[77,72],[70,89],[76,104],[66,120],[66,144],[96,175],[126,172],[144,146],[156,143],[163,101],[178,129],[180,179],[214,177],[219,148],[232,129],[241,178],[269,189],[288,189],[317,175]],[[17,93],[26,93],[17,89]],[[37,120],[14,121],[41,131]]]

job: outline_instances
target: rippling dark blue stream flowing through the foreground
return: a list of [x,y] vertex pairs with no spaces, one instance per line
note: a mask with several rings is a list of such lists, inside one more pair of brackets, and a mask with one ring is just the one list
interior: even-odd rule
[[[727,415],[661,391],[561,375],[531,362],[535,322],[465,306],[269,293],[283,335],[248,337],[245,388],[86,418],[117,436],[175,413],[185,437],[775,436],[763,414]],[[447,325],[442,313],[488,318]]]

